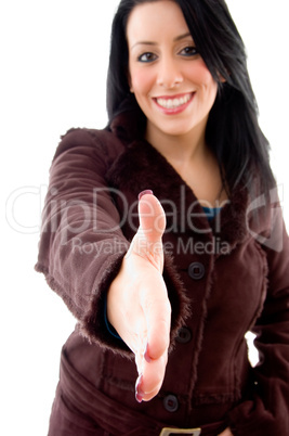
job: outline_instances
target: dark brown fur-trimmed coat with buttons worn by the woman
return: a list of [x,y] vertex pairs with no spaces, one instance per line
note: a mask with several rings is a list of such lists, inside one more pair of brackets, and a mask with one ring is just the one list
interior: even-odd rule
[[[73,129],[52,164],[36,269],[79,320],[63,350],[63,393],[71,402],[78,393],[82,418],[109,434],[157,435],[154,420],[178,427],[221,422],[203,434],[226,425],[241,436],[289,434],[289,242],[280,209],[273,198],[274,214],[259,213],[264,198],[249,200],[244,189],[209,222],[169,163],[146,141],[131,140],[132,128],[122,115],[111,131]],[[131,352],[107,331],[104,313],[145,189],[167,214],[163,277],[173,311],[162,388],[139,405]],[[249,330],[258,334],[257,368],[248,361]],[[77,416],[76,405],[70,410]],[[130,425],[145,416],[150,429],[140,424],[130,433],[121,422],[127,412]]]

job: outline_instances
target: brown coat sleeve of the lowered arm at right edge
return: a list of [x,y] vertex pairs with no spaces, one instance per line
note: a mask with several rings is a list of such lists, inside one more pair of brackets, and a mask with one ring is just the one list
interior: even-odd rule
[[263,245],[267,294],[252,329],[260,357],[253,398],[229,416],[237,436],[289,435],[289,240],[279,207],[275,214],[272,236]]

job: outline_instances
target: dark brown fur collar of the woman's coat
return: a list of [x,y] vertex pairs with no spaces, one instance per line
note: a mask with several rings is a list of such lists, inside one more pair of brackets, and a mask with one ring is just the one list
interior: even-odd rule
[[[250,200],[245,188],[235,190],[220,216],[209,223],[194,192],[168,161],[144,139],[132,140],[135,138],[135,126],[133,114],[119,115],[110,126],[113,133],[120,138],[126,146],[108,171],[109,183],[122,192],[130,192],[134,198],[137,198],[143,190],[153,190],[166,210],[167,226],[174,219],[181,231],[192,230],[184,220],[184,210],[189,208],[194,228],[205,230],[198,233],[198,238],[203,240],[215,235],[229,244],[231,249],[250,238],[252,229],[259,234],[268,234],[267,216],[262,213],[254,218],[247,216]],[[175,214],[172,214],[171,204],[175,205]],[[208,231],[210,229],[211,232]]]

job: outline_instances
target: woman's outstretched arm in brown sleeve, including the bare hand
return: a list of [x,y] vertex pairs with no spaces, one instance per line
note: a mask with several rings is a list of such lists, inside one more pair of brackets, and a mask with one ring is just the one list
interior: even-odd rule
[[[157,198],[144,195],[141,226],[129,244],[106,183],[109,152],[86,130],[62,140],[51,167],[36,269],[90,341],[134,352],[137,399],[148,400],[162,384],[170,343],[171,307],[162,278],[166,217]],[[105,329],[106,297],[108,319],[123,342]]]

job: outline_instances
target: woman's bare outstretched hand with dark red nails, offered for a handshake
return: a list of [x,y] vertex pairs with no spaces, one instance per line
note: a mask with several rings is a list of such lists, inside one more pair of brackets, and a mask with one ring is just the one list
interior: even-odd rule
[[107,295],[107,316],[134,352],[137,401],[154,398],[162,384],[170,343],[171,306],[162,278],[165,211],[146,191],[139,202],[140,228]]

